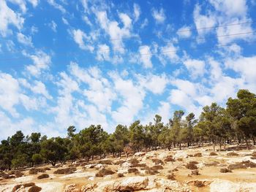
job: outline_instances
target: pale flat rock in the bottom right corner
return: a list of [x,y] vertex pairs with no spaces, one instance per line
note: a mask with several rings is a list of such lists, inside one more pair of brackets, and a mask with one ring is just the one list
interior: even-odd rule
[[228,180],[214,180],[210,185],[211,192],[219,191],[256,191],[256,183],[233,183]]

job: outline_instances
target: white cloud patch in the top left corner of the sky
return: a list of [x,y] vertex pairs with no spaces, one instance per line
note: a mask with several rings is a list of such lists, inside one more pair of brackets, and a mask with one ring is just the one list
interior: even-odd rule
[[13,25],[18,29],[23,27],[24,19],[20,17],[20,14],[14,12],[10,9],[6,1],[0,1],[0,34],[6,36],[11,33],[11,29],[8,28],[9,25]]

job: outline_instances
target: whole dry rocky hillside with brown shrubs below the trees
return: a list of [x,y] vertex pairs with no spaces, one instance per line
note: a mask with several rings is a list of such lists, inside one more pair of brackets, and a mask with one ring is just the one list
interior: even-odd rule
[[256,191],[256,148],[157,150],[0,172],[0,191]]

